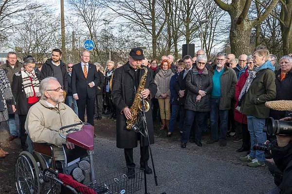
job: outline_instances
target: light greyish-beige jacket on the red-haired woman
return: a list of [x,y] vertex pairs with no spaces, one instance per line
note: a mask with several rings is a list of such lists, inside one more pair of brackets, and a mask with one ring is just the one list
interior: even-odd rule
[[155,95],[155,98],[163,98],[161,94],[166,93],[167,97],[170,98],[170,79],[174,75],[172,73],[171,69],[167,70],[166,75],[164,75],[163,70],[160,69],[158,73],[155,76],[154,82],[157,85],[157,93]]

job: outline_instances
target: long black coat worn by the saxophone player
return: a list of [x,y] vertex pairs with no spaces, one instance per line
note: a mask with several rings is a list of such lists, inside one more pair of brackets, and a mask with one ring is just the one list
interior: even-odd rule
[[[141,80],[144,70],[138,69],[139,78]],[[116,106],[117,111],[117,147],[118,148],[134,148],[138,146],[138,136],[133,130],[126,129],[126,117],[121,113],[125,107],[131,108],[135,98],[134,89],[134,72],[131,70],[129,63],[115,70],[112,80],[111,97],[112,102]],[[147,73],[145,89],[150,90],[149,99],[153,98],[157,92],[157,85],[154,83],[153,76],[150,71]],[[151,106],[151,101],[147,100]],[[150,144],[154,143],[154,129],[152,122],[151,109],[146,112],[147,129],[150,139]],[[148,141],[141,135],[140,146],[147,146]]]

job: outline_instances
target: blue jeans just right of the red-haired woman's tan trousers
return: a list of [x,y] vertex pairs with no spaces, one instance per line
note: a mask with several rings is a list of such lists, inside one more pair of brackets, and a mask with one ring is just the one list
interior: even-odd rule
[[179,113],[180,113],[179,128],[180,128],[180,130],[183,130],[184,108],[183,108],[183,106],[172,104],[168,132],[174,131],[174,126],[175,126],[176,119],[177,119]]

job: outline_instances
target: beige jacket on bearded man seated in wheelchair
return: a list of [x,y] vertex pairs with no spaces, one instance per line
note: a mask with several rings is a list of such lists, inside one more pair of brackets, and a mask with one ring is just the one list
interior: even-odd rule
[[[78,116],[66,104],[60,102],[58,108],[50,107],[46,100],[41,99],[29,109],[25,130],[32,142],[53,144],[55,160],[65,160],[62,144],[66,144],[66,140],[60,137],[58,130],[79,122]],[[74,128],[78,127],[81,125]]]

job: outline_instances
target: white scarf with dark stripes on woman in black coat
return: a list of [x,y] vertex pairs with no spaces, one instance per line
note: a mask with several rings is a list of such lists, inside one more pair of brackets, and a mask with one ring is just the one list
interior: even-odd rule
[[[34,96],[34,90],[36,92],[36,96],[40,97],[40,93],[38,90],[39,87],[39,81],[37,79],[35,70],[33,70],[31,73],[26,71],[24,67],[21,67],[21,77],[22,77],[22,84],[24,88],[24,92],[26,94],[26,97],[33,97]],[[30,80],[32,78],[32,81]]]

